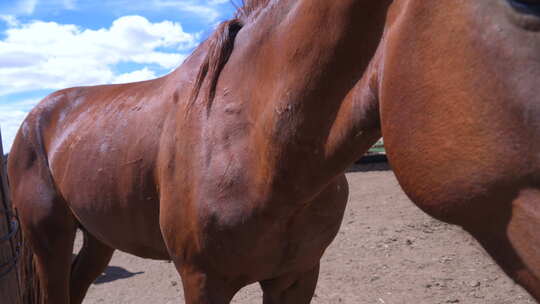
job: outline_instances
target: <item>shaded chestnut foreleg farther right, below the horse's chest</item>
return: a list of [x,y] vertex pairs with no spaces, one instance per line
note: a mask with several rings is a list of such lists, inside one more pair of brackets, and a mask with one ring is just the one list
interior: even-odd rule
[[264,304],[308,304],[319,279],[319,264],[302,274],[262,281]]

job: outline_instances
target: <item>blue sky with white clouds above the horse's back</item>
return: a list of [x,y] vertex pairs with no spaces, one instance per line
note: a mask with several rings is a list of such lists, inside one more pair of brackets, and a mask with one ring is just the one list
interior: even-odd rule
[[49,93],[167,74],[234,11],[229,0],[0,0],[4,149]]

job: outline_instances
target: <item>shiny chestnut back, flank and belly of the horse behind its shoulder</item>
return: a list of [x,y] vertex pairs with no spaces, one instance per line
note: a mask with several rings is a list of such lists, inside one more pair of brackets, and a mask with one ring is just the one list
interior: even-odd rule
[[[114,248],[157,258],[166,257],[154,179],[170,112],[165,82],[55,92],[23,122],[12,157],[41,159],[84,229]],[[126,237],[133,234],[137,242]]]

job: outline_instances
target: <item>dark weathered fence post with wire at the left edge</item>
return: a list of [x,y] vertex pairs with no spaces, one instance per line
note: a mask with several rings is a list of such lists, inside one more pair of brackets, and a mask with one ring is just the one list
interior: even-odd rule
[[19,226],[11,208],[8,186],[0,130],[0,302],[19,304],[21,303],[17,271],[20,253]]

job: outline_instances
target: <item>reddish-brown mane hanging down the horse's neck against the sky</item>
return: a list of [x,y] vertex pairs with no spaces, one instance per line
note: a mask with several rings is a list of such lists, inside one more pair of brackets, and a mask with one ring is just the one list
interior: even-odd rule
[[195,79],[195,85],[193,86],[188,103],[188,112],[201,95],[201,89],[205,81],[208,81],[209,85],[205,92],[203,92],[203,98],[204,103],[207,105],[207,110],[210,110],[216,94],[219,76],[234,49],[236,35],[270,1],[272,0],[243,0],[242,5],[237,6],[234,18],[222,22],[210,38],[208,38],[208,52]]

